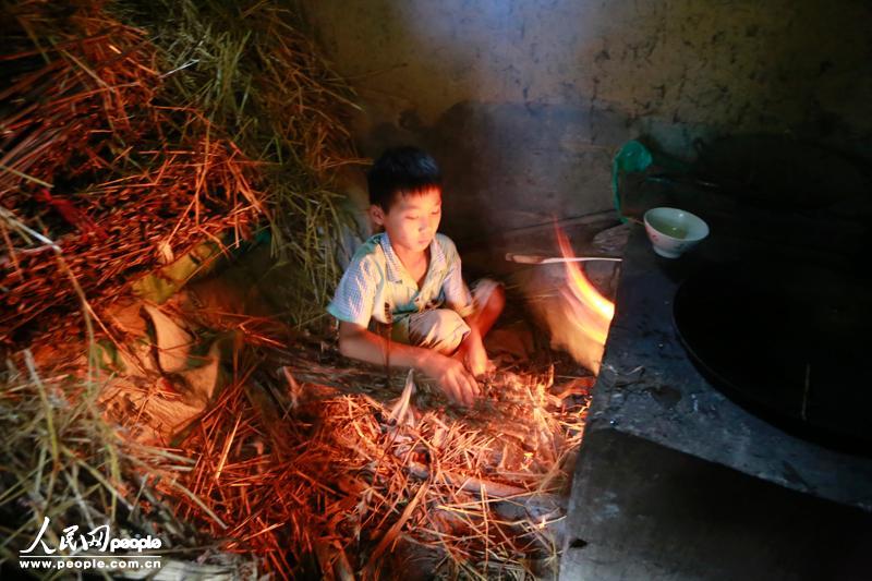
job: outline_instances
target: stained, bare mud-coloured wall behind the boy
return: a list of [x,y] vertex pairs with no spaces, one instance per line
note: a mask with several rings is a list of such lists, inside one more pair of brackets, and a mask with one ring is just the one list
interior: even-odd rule
[[414,143],[447,174],[444,230],[488,234],[610,207],[616,148],[765,132],[872,159],[863,1],[311,0],[358,88],[364,155]]

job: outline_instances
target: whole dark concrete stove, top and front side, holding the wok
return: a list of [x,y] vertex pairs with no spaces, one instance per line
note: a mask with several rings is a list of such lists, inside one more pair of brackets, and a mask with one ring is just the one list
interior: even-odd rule
[[[706,208],[688,209],[710,219]],[[761,404],[778,399],[779,388],[770,377],[752,382],[758,399],[754,389],[751,397],[724,389],[742,383],[736,370],[743,367],[732,361],[742,350],[734,349],[724,367],[717,358],[694,353],[713,347],[692,337],[701,328],[717,332],[718,323],[723,327],[730,320],[732,315],[717,304],[729,302],[730,293],[712,295],[710,306],[717,316],[711,317],[711,328],[699,318],[704,305],[682,312],[676,311],[675,301],[682,301],[679,289],[686,281],[691,281],[686,292],[693,280],[717,282],[706,270],[713,263],[730,265],[736,256],[760,253],[713,221],[711,239],[676,261],[656,256],[642,227],[630,235],[574,471],[561,578],[868,578],[872,458],[863,440],[869,424],[857,419],[869,417],[869,409],[861,408],[869,396],[846,399],[844,415],[852,422],[847,433],[832,410],[825,421],[815,422],[819,428],[823,424],[822,431],[809,432],[790,425],[803,413],[802,392],[809,385],[804,368],[798,384],[792,375],[786,382],[794,399],[780,410]],[[776,256],[774,264],[783,264],[787,254]],[[694,292],[694,301],[700,296],[704,293]],[[683,301],[690,303],[687,296]],[[746,319],[748,349],[783,340],[754,335],[754,323],[766,312],[761,305],[750,311],[755,308]],[[682,332],[676,328],[677,313]],[[829,353],[835,359],[815,362],[815,375],[821,365],[838,364],[838,352]],[[760,367],[754,356],[747,359],[749,367]],[[734,374],[727,373],[726,382],[719,380],[724,368]],[[850,389],[845,386],[849,396],[872,389],[862,383],[868,371],[828,371],[840,382],[855,378]],[[777,373],[775,377],[783,379]],[[770,392],[761,394],[766,387]],[[804,413],[813,411],[820,419],[818,412],[829,403],[818,403],[814,397]],[[838,438],[831,437],[834,433]]]

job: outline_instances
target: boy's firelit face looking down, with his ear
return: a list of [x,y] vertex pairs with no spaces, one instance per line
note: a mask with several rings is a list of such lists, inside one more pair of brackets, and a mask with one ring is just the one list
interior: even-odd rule
[[388,211],[372,207],[375,223],[383,226],[390,244],[401,252],[424,252],[436,235],[443,217],[443,194],[431,187],[412,194],[397,194]]

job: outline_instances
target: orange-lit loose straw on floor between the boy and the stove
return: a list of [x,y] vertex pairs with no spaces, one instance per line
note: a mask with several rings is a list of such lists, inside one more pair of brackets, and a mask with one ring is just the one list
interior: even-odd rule
[[271,351],[179,445],[209,508],[181,498],[180,517],[282,578],[556,574],[588,378],[502,372],[461,411],[411,374],[386,399],[384,376],[328,359],[319,383],[317,353]]

